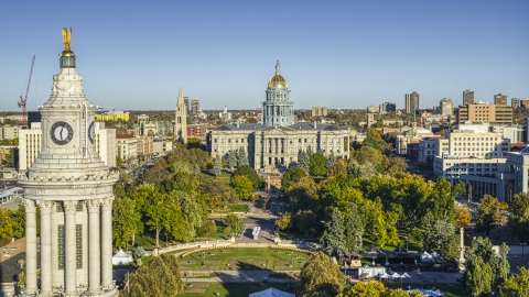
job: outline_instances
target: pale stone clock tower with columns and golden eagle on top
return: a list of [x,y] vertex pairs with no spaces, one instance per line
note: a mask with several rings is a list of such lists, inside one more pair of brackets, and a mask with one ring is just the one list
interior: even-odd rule
[[[112,282],[112,186],[118,172],[94,143],[97,108],[85,97],[83,76],[63,30],[65,50],[42,114],[42,152],[19,175],[26,215],[26,287],[23,296],[117,296]],[[40,208],[40,261],[36,209]],[[41,279],[37,282],[37,270]]]

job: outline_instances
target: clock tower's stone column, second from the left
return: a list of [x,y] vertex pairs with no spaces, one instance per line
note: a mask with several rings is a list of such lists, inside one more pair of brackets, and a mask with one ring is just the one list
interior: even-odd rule
[[54,201],[42,201],[41,207],[41,295],[52,293],[52,207]]

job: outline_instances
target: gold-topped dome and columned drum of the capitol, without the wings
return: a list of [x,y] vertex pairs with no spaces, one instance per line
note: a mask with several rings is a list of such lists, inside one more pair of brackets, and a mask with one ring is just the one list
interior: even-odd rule
[[280,73],[279,61],[276,63],[276,75],[270,78],[267,100],[262,101],[263,125],[291,125],[294,123],[294,102],[290,101],[287,79]]

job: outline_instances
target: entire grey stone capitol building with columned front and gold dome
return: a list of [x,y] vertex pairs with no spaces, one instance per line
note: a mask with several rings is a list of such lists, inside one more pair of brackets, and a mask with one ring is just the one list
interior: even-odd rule
[[298,162],[299,152],[307,147],[325,156],[349,157],[348,128],[316,122],[295,123],[293,110],[294,102],[290,101],[290,89],[280,74],[278,62],[276,74],[268,81],[261,123],[230,123],[208,129],[207,152],[224,157],[244,147],[250,166],[264,172],[287,169]]

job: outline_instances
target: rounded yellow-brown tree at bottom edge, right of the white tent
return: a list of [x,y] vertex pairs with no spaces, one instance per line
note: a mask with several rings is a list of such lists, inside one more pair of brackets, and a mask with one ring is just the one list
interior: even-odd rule
[[[337,296],[344,288],[344,275],[338,265],[322,252],[314,254],[300,272],[298,296]],[[326,294],[326,295],[325,295]]]

